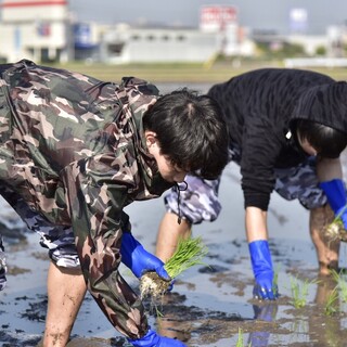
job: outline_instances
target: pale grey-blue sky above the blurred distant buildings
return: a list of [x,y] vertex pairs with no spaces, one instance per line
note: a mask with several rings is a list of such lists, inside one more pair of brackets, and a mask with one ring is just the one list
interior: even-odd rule
[[200,8],[204,4],[233,5],[239,23],[250,29],[290,33],[291,9],[306,9],[307,34],[321,35],[326,26],[347,21],[347,0],[68,0],[78,21],[116,24],[156,23],[198,26]]

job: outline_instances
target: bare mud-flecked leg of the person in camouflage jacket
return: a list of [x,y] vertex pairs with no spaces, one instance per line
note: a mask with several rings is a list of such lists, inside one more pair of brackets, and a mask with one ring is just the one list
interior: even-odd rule
[[80,270],[59,268],[51,262],[43,347],[66,346],[86,291]]

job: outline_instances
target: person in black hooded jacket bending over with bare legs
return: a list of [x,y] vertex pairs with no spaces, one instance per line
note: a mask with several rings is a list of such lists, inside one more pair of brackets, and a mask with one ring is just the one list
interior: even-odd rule
[[[287,201],[298,200],[309,209],[319,270],[329,274],[338,266],[339,241],[326,240],[322,231],[334,215],[347,229],[339,160],[347,144],[347,83],[310,70],[265,68],[215,85],[208,95],[226,114],[230,160],[241,168],[254,296],[278,296],[267,228],[273,191]],[[192,224],[215,220],[221,209],[220,178],[204,180],[189,175],[185,181],[180,224],[177,191],[172,189],[165,196],[167,211],[156,243],[156,255],[163,261],[172,255],[178,240],[190,234]]]

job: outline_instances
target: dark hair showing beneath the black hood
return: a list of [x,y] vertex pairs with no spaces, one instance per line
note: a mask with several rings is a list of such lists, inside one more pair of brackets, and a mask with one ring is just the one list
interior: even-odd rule
[[340,130],[324,126],[320,123],[297,119],[295,121],[297,137],[307,140],[318,155],[327,158],[337,158],[347,145],[347,136]]

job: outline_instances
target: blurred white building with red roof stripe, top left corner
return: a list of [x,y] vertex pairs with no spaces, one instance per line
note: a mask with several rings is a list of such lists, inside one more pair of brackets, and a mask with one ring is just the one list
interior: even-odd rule
[[2,0],[0,57],[66,61],[69,23],[65,0]]

